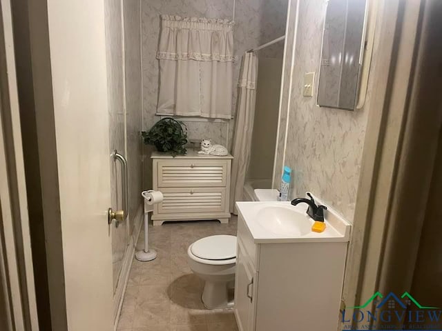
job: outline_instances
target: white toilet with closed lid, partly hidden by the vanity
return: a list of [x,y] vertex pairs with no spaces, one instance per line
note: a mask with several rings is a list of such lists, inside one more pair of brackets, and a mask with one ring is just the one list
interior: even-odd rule
[[229,308],[228,285],[235,280],[236,237],[216,235],[199,239],[187,249],[191,270],[205,281],[202,302],[209,309]]

